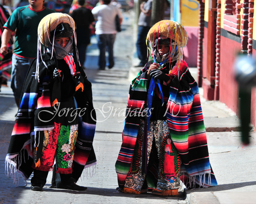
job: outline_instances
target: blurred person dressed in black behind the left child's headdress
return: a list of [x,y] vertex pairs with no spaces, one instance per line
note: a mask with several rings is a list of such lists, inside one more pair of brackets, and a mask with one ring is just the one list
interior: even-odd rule
[[90,44],[90,24],[94,22],[94,16],[90,9],[85,8],[85,0],[78,0],[78,8],[76,8],[70,16],[76,23],[76,40],[81,66],[84,67],[86,59],[86,48]]

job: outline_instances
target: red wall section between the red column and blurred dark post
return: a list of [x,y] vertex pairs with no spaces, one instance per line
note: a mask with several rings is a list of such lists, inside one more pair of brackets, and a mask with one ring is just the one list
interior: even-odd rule
[[241,44],[220,36],[220,90],[219,100],[238,114],[238,84],[235,81],[233,64]]

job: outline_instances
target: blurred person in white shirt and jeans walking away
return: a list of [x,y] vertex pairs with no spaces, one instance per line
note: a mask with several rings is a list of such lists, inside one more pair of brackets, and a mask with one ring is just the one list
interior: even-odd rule
[[111,69],[114,66],[113,45],[117,33],[116,16],[118,15],[120,24],[123,16],[117,7],[109,5],[111,0],[100,0],[100,2],[100,6],[92,9],[92,14],[97,19],[95,34],[98,40],[98,48],[100,49],[98,66],[99,69],[103,70],[106,67],[106,48],[108,51],[108,68]]

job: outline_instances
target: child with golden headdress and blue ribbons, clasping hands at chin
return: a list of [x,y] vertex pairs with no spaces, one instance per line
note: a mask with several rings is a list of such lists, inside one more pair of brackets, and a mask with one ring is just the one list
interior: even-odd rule
[[209,162],[199,90],[182,48],[187,33],[175,21],[156,23],[147,36],[150,61],[129,90],[123,143],[116,162],[118,191],[176,196],[216,186]]

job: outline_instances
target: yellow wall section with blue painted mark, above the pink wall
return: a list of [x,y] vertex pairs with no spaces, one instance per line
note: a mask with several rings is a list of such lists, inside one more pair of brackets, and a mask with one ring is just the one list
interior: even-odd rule
[[198,27],[199,2],[181,0],[181,25]]

